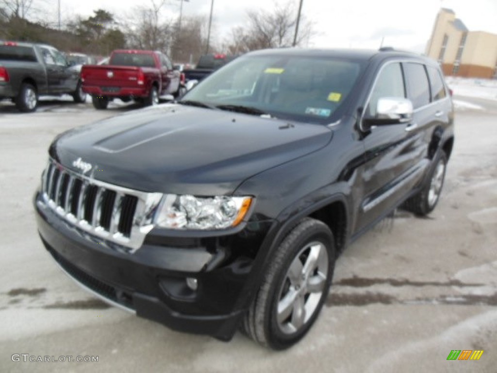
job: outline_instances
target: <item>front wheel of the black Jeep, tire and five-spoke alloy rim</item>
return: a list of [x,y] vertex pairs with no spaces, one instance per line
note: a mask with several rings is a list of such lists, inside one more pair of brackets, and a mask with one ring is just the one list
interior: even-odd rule
[[328,295],[335,265],[333,234],[303,219],[279,245],[244,316],[244,334],[275,350],[303,338]]

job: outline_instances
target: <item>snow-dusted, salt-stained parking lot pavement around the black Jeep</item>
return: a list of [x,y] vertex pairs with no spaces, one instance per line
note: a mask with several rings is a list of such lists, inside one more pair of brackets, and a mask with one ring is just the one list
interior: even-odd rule
[[[463,98],[466,100],[466,98]],[[457,112],[442,199],[426,219],[404,211],[339,258],[309,335],[284,352],[176,333],[87,294],[45,252],[31,198],[53,137],[135,108],[95,111],[49,100],[20,114],[0,104],[0,372],[497,371],[497,104]],[[478,101],[478,102],[476,102]],[[451,350],[484,350],[447,361]],[[98,356],[98,362],[20,362]]]

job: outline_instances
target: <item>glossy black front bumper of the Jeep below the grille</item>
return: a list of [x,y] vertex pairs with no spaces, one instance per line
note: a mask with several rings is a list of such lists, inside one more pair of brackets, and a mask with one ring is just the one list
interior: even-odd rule
[[[270,222],[223,237],[164,237],[152,231],[135,253],[90,235],[34,198],[40,237],[59,266],[83,287],[182,332],[229,340],[248,304],[243,291],[253,267],[249,247],[262,243]],[[186,278],[194,278],[192,290]]]

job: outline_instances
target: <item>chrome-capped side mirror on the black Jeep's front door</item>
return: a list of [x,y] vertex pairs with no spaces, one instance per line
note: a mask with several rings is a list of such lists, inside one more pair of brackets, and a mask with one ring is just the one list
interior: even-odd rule
[[404,97],[382,97],[376,104],[374,116],[364,116],[363,124],[382,126],[407,123],[413,119],[413,103]]

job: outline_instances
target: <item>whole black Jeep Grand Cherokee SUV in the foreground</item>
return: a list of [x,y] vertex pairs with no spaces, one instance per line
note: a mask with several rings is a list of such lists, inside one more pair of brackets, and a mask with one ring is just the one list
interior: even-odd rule
[[38,229],[60,267],[114,305],[283,349],[316,320],[348,243],[399,206],[435,207],[453,141],[432,60],[249,53],[177,103],[59,135]]

